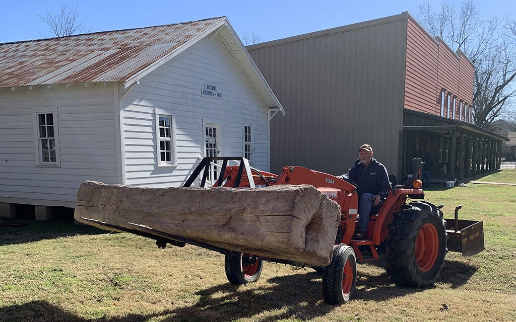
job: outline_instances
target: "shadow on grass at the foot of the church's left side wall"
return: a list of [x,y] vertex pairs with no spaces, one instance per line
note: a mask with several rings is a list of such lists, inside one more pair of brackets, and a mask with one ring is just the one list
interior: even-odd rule
[[23,221],[2,218],[2,221],[20,226],[0,225],[0,246],[24,244],[46,239],[75,235],[103,234],[105,230],[92,226],[76,225],[59,221]]

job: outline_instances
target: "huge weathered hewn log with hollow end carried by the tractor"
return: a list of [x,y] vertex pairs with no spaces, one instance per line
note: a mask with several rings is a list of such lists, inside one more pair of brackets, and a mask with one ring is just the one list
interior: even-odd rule
[[[266,188],[140,188],[86,181],[75,219],[179,235],[216,247],[329,264],[340,210],[311,185]],[[106,228],[105,226],[99,226]]]

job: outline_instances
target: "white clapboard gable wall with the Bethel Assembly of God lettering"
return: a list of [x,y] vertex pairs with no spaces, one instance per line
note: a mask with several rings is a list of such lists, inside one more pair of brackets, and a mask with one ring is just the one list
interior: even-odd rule
[[[205,82],[217,84],[222,98],[201,96]],[[180,185],[204,156],[205,123],[221,127],[221,156],[243,156],[243,125],[251,125],[252,166],[269,169],[267,107],[218,36],[200,40],[140,79],[121,104],[126,184]],[[157,165],[155,109],[175,120],[176,167]]]

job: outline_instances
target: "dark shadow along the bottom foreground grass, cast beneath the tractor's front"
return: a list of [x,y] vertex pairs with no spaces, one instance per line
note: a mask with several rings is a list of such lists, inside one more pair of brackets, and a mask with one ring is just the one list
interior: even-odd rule
[[[404,289],[392,285],[389,276],[362,276],[357,281],[356,299],[382,301],[421,290]],[[231,321],[253,317],[261,322],[296,318],[309,320],[324,316],[334,310],[322,301],[321,277],[317,273],[278,276],[259,287],[223,283],[195,293],[195,304],[152,314],[128,314],[121,317],[87,319],[62,310],[45,301],[0,308],[0,322],[4,321],[70,321],[70,322],[133,322],[157,317],[162,321]],[[355,314],[351,303],[344,309]]]

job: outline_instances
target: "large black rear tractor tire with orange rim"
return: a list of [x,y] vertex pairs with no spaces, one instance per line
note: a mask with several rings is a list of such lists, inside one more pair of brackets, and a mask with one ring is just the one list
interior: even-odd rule
[[447,240],[442,211],[430,202],[410,202],[394,216],[385,240],[392,281],[408,287],[433,285],[444,264]]

